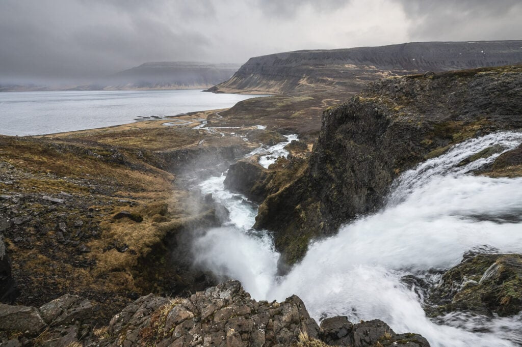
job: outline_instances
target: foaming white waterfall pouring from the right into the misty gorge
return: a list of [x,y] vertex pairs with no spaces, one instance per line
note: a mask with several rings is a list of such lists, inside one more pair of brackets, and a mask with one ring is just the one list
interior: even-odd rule
[[[276,276],[279,255],[267,234],[248,231],[255,211],[237,221],[231,213],[228,226],[196,240],[196,260],[218,275],[240,280],[255,299],[297,294],[316,319],[379,318],[396,332],[422,334],[432,346],[522,344],[520,316],[490,320],[454,313],[437,324],[426,318],[419,296],[401,282],[405,275],[427,278],[430,269],[456,265],[478,245],[522,253],[522,179],[468,174],[521,142],[521,133],[490,134],[404,172],[385,208],[311,244],[303,261],[282,278]],[[458,166],[492,145],[502,150]]]

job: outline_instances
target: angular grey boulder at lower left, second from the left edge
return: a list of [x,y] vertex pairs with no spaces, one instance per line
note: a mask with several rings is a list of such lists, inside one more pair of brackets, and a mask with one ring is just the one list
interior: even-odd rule
[[68,324],[90,317],[92,305],[87,299],[65,294],[40,307],[40,315],[48,325]]

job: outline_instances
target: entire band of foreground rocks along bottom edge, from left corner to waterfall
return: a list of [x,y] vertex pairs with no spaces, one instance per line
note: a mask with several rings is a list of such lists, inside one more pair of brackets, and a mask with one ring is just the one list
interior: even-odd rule
[[238,281],[228,281],[187,299],[149,294],[94,329],[90,302],[64,295],[40,308],[0,304],[0,344],[10,346],[418,346],[418,334],[396,334],[381,320],[350,323],[325,319],[321,327],[298,298],[256,302]]

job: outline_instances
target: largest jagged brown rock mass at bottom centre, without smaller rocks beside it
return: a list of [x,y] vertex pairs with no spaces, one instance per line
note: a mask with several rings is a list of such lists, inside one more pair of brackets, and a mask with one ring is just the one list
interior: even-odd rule
[[[137,313],[144,306],[147,317]],[[113,345],[139,341],[158,346],[290,345],[300,331],[316,337],[318,330],[297,296],[282,303],[256,302],[238,281],[219,284],[188,299],[145,296],[116,315],[109,327]]]

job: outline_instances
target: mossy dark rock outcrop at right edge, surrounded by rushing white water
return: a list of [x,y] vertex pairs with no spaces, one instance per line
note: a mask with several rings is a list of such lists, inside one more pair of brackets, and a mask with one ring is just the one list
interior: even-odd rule
[[468,311],[511,316],[522,311],[522,255],[478,254],[449,269],[430,293],[432,315]]

